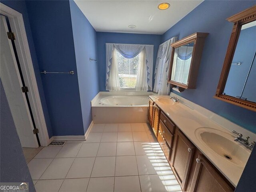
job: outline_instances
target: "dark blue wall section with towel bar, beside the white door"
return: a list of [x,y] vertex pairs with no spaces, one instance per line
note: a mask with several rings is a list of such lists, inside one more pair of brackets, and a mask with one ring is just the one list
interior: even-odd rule
[[76,57],[69,1],[26,1],[54,136],[83,135]]

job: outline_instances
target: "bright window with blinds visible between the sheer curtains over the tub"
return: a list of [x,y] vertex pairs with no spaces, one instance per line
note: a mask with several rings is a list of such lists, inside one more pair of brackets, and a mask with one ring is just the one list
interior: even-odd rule
[[135,89],[138,71],[140,54],[136,57],[127,59],[116,51],[118,77],[120,89]]

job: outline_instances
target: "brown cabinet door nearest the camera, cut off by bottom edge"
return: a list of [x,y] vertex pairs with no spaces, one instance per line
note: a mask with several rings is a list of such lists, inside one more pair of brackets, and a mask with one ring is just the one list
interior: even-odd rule
[[234,192],[202,154],[196,162],[190,192]]

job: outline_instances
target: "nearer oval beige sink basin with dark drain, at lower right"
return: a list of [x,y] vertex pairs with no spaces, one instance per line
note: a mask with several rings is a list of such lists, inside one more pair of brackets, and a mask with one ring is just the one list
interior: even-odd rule
[[234,141],[234,136],[213,128],[198,128],[196,137],[216,154],[238,166],[245,166],[250,152]]

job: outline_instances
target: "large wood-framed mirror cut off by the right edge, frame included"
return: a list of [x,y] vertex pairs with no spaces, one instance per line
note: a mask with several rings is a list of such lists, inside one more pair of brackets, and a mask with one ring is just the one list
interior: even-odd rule
[[256,111],[256,5],[227,20],[234,26],[214,98]]

